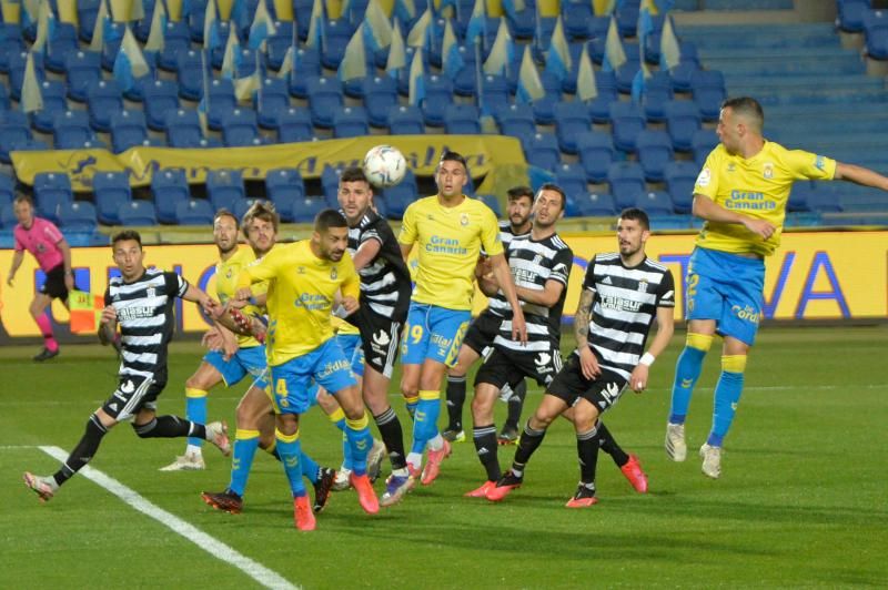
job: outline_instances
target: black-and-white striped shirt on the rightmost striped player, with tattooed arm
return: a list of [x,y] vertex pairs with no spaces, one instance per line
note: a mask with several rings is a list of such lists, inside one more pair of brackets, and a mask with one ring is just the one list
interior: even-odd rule
[[589,261],[583,289],[592,289],[588,342],[603,368],[627,378],[645,350],[657,307],[675,307],[673,274],[645,258],[632,268],[618,253]]

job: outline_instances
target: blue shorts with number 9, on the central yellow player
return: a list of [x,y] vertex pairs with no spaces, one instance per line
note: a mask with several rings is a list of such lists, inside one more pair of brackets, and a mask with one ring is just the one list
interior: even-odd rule
[[428,358],[454,366],[471,322],[468,311],[411,302],[401,339],[401,362],[422,365]]

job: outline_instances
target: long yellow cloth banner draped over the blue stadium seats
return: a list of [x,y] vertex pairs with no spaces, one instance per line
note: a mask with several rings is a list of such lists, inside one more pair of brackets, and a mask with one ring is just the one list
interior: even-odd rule
[[174,148],[131,148],[113,154],[107,150],[53,150],[12,152],[16,175],[33,184],[41,172],[67,173],[74,191],[92,191],[97,172],[130,171],[132,186],[151,184],[161,169],[185,169],[190,184],[201,184],[210,170],[240,170],[245,180],[264,180],[270,170],[295,167],[304,179],[316,179],[324,164],[334,167],[357,165],[374,145],[396,146],[414,173],[432,175],[443,150],[466,157],[473,176],[483,176],[494,166],[524,166],[524,152],[515,138],[500,135],[372,135],[307,143],[282,143],[253,148],[178,150]]

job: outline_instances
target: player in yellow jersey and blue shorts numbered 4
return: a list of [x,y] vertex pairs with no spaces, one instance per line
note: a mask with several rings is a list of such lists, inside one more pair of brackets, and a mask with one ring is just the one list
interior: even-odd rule
[[373,437],[351,362],[333,337],[330,322],[337,292],[347,313],[359,307],[360,278],[345,253],[347,242],[345,217],[334,210],[324,210],[315,217],[311,240],[278,246],[238,277],[240,301],[252,297],[251,284],[270,282],[266,347],[275,401],[275,438],[293,492],[294,520],[301,530],[315,528],[302,482],[299,440],[299,416],[311,405],[312,379],[336,396],[345,413],[345,435],[352,449],[352,486],[366,512],[379,511],[379,500],[366,476]]

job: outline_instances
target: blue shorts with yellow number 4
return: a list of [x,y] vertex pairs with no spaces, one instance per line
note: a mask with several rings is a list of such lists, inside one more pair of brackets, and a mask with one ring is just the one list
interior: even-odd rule
[[272,394],[281,414],[304,414],[313,405],[313,382],[335,394],[357,385],[351,360],[335,338],[283,365],[271,367]]

